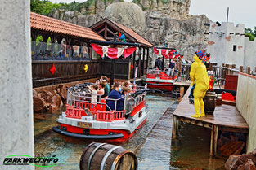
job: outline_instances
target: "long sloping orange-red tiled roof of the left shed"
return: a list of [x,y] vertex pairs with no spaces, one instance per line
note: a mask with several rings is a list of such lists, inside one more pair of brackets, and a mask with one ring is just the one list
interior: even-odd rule
[[62,20],[56,20],[34,12],[30,13],[30,27],[42,31],[61,33],[89,40],[106,41],[103,37],[93,32],[92,29],[76,24],[70,24]]

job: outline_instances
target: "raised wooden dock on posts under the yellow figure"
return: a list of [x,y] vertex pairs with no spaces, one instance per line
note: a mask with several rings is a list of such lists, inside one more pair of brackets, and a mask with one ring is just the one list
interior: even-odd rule
[[201,118],[191,117],[191,115],[195,114],[195,107],[189,102],[188,96],[190,91],[191,87],[186,91],[182,101],[173,112],[173,140],[176,138],[178,124],[180,122],[209,128],[211,129],[210,155],[213,156],[217,154],[218,130],[249,133],[249,125],[234,106],[222,104],[215,108],[213,116],[208,115]]

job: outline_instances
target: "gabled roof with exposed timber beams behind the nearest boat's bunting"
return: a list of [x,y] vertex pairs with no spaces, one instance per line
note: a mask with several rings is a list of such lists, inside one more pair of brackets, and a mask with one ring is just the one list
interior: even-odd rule
[[[105,37],[107,40],[113,39],[114,33],[116,32],[124,32],[126,41],[130,41],[133,43],[137,42],[141,44],[141,46],[145,47],[153,47],[150,41],[147,41],[144,37],[141,37],[141,35],[133,31],[131,28],[127,28],[124,25],[115,23],[114,21],[107,18],[100,20],[96,24],[93,24],[90,28],[92,28],[93,31],[99,34],[105,32],[105,36],[102,35],[102,37]],[[112,37],[106,37],[106,32],[110,33]]]

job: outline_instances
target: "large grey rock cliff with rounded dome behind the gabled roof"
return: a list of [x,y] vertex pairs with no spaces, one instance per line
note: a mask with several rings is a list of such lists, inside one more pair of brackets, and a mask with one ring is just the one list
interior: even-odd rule
[[[205,15],[189,15],[191,0],[133,0],[133,2],[137,5],[120,0],[112,2],[97,0],[96,3],[90,3],[96,14],[90,13],[89,8],[85,7],[81,12],[53,11],[50,16],[85,27],[107,17],[132,28],[155,46],[168,43],[184,54],[184,59],[192,59],[195,50],[206,49],[204,32],[209,28],[205,27],[204,23],[209,23],[209,19]],[[93,15],[88,15],[86,12]],[[155,59],[150,61],[154,63]]]

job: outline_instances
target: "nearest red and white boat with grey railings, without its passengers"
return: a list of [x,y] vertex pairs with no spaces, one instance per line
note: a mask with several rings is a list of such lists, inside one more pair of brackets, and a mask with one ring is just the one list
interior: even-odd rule
[[97,103],[91,102],[86,85],[68,89],[66,111],[56,120],[56,133],[82,139],[110,140],[124,142],[146,123],[146,87],[134,86],[131,94],[124,97],[124,110],[111,110],[107,99],[97,96]]

